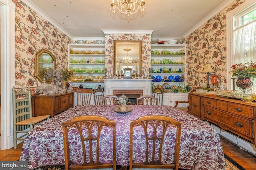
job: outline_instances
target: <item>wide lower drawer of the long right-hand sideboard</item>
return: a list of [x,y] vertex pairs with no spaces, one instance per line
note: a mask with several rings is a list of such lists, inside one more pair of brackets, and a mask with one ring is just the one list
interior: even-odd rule
[[253,127],[250,119],[236,117],[235,115],[228,115],[210,107],[203,107],[203,115],[206,119],[210,119],[210,121],[212,120],[216,123],[221,123],[233,131],[252,138]]

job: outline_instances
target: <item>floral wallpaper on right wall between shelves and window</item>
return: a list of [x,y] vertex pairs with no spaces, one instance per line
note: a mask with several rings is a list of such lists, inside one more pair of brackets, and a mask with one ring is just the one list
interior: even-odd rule
[[245,0],[235,0],[185,38],[188,85],[196,88],[202,82],[207,83],[207,74],[201,72],[205,64],[210,63],[219,85],[220,81],[224,81],[226,88],[226,13],[243,2]]

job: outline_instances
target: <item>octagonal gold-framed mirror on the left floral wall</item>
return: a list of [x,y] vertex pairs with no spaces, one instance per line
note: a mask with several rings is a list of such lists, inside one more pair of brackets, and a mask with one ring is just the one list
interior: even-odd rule
[[[35,76],[38,80],[44,82],[44,73],[48,68],[55,68],[56,59],[50,51],[41,49],[35,55]],[[46,80],[46,78],[45,78]],[[51,83],[52,79],[46,80],[46,83]]]

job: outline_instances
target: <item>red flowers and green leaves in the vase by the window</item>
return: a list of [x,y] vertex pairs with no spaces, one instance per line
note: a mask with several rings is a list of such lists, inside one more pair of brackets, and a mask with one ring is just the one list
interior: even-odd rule
[[231,68],[232,77],[256,78],[256,63],[234,64]]

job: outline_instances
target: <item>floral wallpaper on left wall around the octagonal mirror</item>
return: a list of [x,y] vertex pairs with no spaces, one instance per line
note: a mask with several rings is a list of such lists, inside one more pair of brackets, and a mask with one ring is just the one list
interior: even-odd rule
[[16,4],[16,88],[38,87],[41,83],[34,75],[35,54],[46,49],[56,58],[56,67],[67,67],[68,43],[72,40],[21,0],[13,2]]

